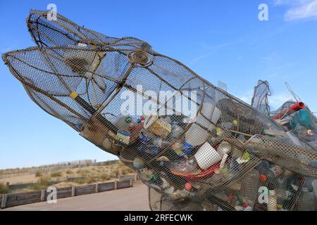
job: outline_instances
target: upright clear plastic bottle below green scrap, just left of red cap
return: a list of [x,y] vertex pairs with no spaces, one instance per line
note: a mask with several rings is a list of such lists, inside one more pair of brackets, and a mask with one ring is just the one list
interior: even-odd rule
[[244,176],[241,186],[241,195],[245,203],[250,207],[254,206],[259,191],[259,171],[252,169],[251,172]]

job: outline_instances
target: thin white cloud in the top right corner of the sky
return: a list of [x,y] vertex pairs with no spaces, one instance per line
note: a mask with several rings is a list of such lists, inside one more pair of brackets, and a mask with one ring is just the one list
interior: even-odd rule
[[284,15],[286,21],[317,19],[317,0],[275,0],[276,6],[290,6]]

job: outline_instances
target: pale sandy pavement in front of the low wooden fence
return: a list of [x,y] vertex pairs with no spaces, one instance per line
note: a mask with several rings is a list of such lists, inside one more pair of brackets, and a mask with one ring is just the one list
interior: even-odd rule
[[[4,209],[6,211],[149,211],[147,186],[137,181],[132,188],[105,191],[72,198],[61,198],[56,204],[33,203]],[[1,211],[1,210],[0,210]]]

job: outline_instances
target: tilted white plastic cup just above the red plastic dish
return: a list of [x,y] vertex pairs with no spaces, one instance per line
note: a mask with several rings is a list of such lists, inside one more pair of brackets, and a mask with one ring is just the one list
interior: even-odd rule
[[208,142],[197,150],[194,158],[201,169],[208,169],[221,160],[221,156]]

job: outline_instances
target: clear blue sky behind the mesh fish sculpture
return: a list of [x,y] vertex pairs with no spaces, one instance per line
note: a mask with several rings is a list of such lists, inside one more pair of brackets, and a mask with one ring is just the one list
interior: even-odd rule
[[[0,53],[35,46],[25,18],[50,3],[89,29],[148,41],[244,101],[258,79],[267,79],[278,108],[292,98],[286,81],[317,112],[317,0],[0,0]],[[261,3],[268,4],[268,21],[258,19]],[[114,158],[35,105],[3,63],[0,96],[0,169]]]

